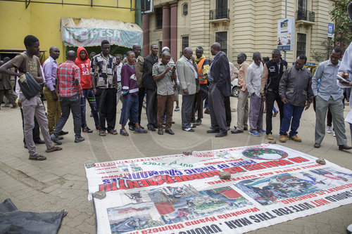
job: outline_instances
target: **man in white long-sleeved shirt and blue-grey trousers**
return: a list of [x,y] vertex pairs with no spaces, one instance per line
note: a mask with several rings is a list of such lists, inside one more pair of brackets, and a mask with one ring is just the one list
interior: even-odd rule
[[263,64],[259,52],[253,53],[253,63],[249,65],[246,72],[246,86],[251,99],[249,107],[249,134],[260,136],[263,130],[264,102],[260,97],[260,81],[263,74]]

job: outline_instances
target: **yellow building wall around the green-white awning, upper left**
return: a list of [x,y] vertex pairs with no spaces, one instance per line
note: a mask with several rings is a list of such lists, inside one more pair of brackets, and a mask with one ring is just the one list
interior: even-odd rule
[[[61,0],[48,0],[61,3]],[[116,6],[116,0],[94,0],[94,5]],[[90,0],[64,0],[64,3],[90,4]],[[96,18],[101,20],[118,20],[134,22],[134,11],[130,10],[130,1],[118,1],[119,7],[103,8],[91,6],[69,6],[61,4],[30,3],[25,8],[24,2],[0,1],[0,49],[25,48],[23,39],[32,34],[39,39],[40,49],[49,57],[49,48],[58,46],[61,55],[58,63],[65,61],[65,46],[60,38],[61,17]],[[132,8],[134,1],[132,1]]]

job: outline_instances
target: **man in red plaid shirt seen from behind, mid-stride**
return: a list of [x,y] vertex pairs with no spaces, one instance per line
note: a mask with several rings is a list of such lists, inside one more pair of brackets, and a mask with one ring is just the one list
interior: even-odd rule
[[70,110],[73,115],[73,130],[75,131],[75,143],[84,141],[81,136],[81,96],[82,87],[80,85],[80,68],[75,65],[76,53],[75,51],[68,51],[65,63],[58,66],[58,95],[60,96],[60,105],[62,115],[58,119],[55,131],[51,134],[51,140],[61,145],[58,139],[63,126],[65,125]]

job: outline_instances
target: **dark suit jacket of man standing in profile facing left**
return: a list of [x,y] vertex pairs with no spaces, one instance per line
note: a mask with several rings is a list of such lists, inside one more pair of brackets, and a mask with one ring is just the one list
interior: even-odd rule
[[228,97],[231,95],[231,75],[230,64],[227,60],[226,53],[220,51],[214,57],[210,69],[210,75],[214,78],[216,86],[220,89],[223,96]]

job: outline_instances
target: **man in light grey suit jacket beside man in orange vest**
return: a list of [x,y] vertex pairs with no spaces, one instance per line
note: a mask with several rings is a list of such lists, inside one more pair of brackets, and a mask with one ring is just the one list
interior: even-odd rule
[[180,80],[180,94],[182,95],[182,130],[194,131],[191,124],[191,112],[194,98],[196,95],[196,63],[194,63],[193,51],[187,47],[183,50],[183,56],[177,60],[176,71],[177,77]]

